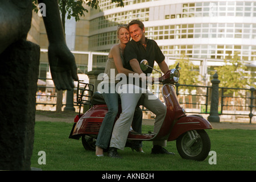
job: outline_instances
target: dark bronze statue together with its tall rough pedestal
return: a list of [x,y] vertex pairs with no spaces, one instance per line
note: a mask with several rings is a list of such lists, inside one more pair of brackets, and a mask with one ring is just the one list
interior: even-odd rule
[[[58,90],[72,90],[77,67],[65,43],[58,1],[38,2],[46,5],[53,82]],[[31,0],[0,0],[0,170],[31,168],[40,57],[40,47],[26,41],[31,18]]]

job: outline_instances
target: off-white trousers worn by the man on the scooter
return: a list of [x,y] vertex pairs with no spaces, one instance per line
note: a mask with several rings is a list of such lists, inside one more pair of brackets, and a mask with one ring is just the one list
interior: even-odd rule
[[[134,110],[141,95],[144,94],[143,106],[156,115],[154,133],[158,133],[162,126],[166,115],[166,106],[149,90],[143,90],[135,85],[121,85],[120,87],[118,92],[121,98],[122,113],[115,122],[112,138],[110,140],[110,147],[123,150],[125,148],[131,123],[133,122]],[[131,89],[133,89],[133,92],[131,92]],[[153,144],[164,147],[166,146],[166,140],[154,141]]]

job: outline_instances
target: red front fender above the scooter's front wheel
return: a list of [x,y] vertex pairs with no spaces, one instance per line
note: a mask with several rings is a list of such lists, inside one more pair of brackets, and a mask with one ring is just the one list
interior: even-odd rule
[[168,141],[176,140],[181,134],[189,130],[212,129],[210,122],[199,115],[188,115],[177,120]]

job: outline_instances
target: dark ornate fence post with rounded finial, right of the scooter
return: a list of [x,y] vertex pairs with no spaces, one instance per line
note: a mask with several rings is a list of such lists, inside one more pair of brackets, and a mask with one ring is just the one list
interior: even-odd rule
[[210,101],[210,115],[208,117],[209,122],[220,122],[220,116],[218,115],[218,80],[217,72],[213,75],[212,82],[212,96]]

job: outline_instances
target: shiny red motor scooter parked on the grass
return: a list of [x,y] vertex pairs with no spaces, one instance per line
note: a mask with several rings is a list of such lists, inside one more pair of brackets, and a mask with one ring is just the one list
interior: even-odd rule
[[[143,60],[141,62],[142,70],[148,67],[147,61]],[[174,87],[174,84],[179,81],[179,69],[178,63],[175,69],[169,70],[158,78],[159,82],[163,83],[162,94],[167,108],[166,118],[159,132],[157,134],[138,134],[130,131],[127,141],[176,140],[177,151],[182,158],[204,160],[210,151],[210,139],[205,129],[212,129],[212,126],[201,115],[186,115],[185,110],[180,106]],[[77,103],[80,104],[80,109],[82,105],[89,105],[90,109],[84,114],[80,114],[79,111],[69,135],[69,138],[73,139],[82,137],[82,144],[85,150],[95,150],[98,131],[105,114],[108,112],[104,98],[98,92],[93,93],[93,87],[92,84],[79,82],[77,86]],[[119,107],[117,118],[120,113],[121,106]]]

